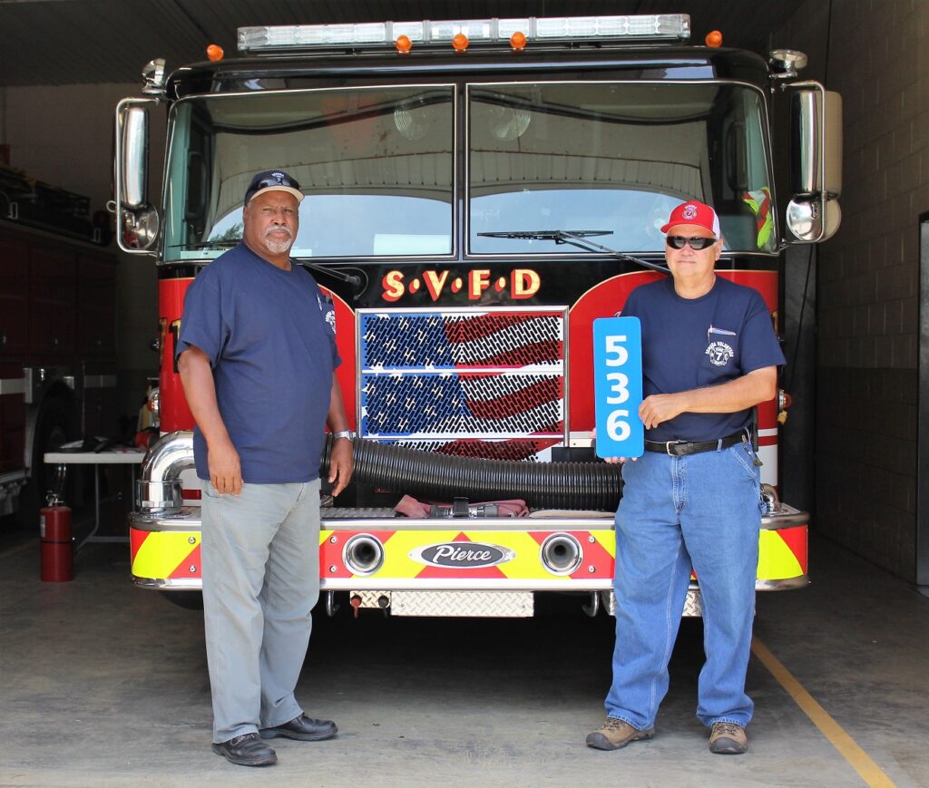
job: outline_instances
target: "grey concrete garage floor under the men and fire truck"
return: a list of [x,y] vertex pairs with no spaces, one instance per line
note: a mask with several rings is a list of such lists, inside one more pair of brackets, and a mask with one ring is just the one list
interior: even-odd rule
[[[814,585],[762,595],[756,638],[883,784],[929,786],[929,600],[829,543],[811,553]],[[0,533],[0,785],[867,784],[755,658],[751,751],[710,755],[693,716],[695,621],[656,738],[585,747],[602,721],[612,619],[573,600],[512,621],[320,611],[298,696],[339,737],[277,740],[277,766],[235,767],[209,747],[200,614],[132,588],[128,570],[126,547],[90,545],[73,582],[42,583],[37,539]]]

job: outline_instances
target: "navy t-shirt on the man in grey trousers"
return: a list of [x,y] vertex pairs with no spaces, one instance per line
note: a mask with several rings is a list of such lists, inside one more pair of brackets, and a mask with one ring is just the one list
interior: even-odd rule
[[[176,356],[209,356],[216,401],[249,484],[320,475],[335,349],[334,313],[306,269],[283,271],[240,243],[197,275],[184,300]],[[197,475],[209,479],[196,428]]]

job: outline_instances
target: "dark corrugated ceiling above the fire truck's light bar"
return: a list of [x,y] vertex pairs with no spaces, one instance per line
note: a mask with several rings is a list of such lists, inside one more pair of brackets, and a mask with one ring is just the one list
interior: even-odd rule
[[0,0],[0,85],[138,82],[151,58],[169,70],[236,56],[245,25],[564,14],[691,15],[693,40],[723,31],[726,45],[765,54],[801,0]]

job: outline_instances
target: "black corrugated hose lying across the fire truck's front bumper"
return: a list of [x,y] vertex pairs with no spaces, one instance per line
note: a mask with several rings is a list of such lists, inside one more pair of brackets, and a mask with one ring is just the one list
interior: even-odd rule
[[[323,474],[333,438],[326,436]],[[352,481],[412,496],[474,502],[519,498],[533,508],[613,511],[622,495],[620,466],[607,462],[514,462],[434,454],[356,438]]]

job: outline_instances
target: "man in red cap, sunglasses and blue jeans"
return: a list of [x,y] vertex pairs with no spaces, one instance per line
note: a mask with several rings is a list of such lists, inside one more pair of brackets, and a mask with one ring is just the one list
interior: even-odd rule
[[745,694],[761,490],[752,408],[776,393],[784,363],[757,291],[718,278],[719,217],[688,200],[666,225],[671,278],[633,291],[642,322],[645,454],[623,462],[616,512],[616,646],[607,721],[587,744],[616,750],[655,735],[691,572],[700,582],[706,663],[697,717],[710,750],[748,749]]

